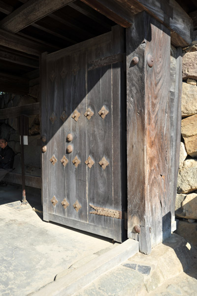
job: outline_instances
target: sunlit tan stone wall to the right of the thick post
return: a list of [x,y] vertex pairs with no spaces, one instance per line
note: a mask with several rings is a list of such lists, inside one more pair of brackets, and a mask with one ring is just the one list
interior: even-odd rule
[[[197,41],[183,48],[182,122],[176,218],[177,233],[197,246]],[[189,223],[194,223],[192,226]]]

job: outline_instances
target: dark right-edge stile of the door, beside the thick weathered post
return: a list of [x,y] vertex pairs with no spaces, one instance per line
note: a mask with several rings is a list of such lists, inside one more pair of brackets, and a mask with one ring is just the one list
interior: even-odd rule
[[[126,210],[127,174],[126,174],[126,92],[124,64],[126,56],[124,46],[124,29],[112,28],[112,54],[121,53],[122,63],[112,65],[112,151],[113,151],[113,209]],[[120,178],[121,176],[121,178]],[[124,219],[124,217],[123,217]],[[122,223],[122,231],[120,224]],[[114,240],[123,241],[126,231],[124,220],[113,219]]]

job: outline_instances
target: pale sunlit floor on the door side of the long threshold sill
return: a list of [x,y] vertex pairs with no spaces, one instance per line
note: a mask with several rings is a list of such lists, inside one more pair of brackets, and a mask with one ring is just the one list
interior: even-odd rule
[[[28,196],[37,207],[40,200],[31,194],[27,200]],[[21,188],[0,187],[1,296],[28,295],[76,261],[113,246],[110,239],[43,222],[32,207],[19,211],[20,200]]]

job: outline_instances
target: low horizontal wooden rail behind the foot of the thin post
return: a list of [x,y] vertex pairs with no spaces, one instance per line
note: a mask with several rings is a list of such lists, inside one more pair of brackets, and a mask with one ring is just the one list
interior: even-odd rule
[[[15,174],[15,173],[8,173],[3,178],[3,181],[22,185],[22,175]],[[34,187],[34,188],[41,188],[41,178],[25,175],[25,185]]]

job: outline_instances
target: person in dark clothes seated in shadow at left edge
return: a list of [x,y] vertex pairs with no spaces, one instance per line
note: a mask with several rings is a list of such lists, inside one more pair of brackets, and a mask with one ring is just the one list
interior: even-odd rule
[[6,139],[0,139],[0,181],[12,171],[14,151],[7,145]]

